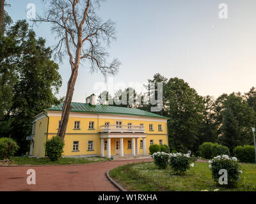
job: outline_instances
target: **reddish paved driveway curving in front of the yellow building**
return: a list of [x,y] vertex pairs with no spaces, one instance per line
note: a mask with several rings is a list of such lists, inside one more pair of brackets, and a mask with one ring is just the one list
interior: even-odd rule
[[[118,191],[105,173],[117,166],[152,159],[106,161],[77,166],[0,166],[0,191]],[[28,185],[28,169],[36,171],[36,184]]]

